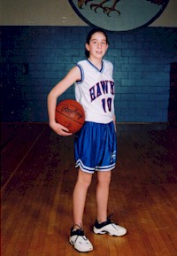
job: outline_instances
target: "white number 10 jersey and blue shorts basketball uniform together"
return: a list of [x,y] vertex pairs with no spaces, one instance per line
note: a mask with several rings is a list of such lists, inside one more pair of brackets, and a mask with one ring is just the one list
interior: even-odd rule
[[81,81],[75,82],[75,97],[84,108],[86,122],[75,136],[76,167],[89,173],[112,170],[117,156],[112,63],[103,60],[101,70],[89,60],[77,66]]

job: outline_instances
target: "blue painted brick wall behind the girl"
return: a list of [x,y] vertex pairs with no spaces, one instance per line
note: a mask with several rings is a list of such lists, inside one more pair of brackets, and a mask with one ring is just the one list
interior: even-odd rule
[[[84,57],[90,27],[1,27],[1,119],[48,121],[50,89]],[[177,28],[108,32],[119,122],[167,121]],[[60,99],[74,98],[73,87]]]

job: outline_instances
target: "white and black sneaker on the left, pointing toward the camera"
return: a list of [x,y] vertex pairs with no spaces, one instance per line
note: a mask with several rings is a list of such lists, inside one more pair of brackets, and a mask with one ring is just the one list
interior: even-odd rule
[[69,237],[70,244],[73,244],[74,249],[79,252],[90,252],[93,250],[93,245],[85,236],[83,229],[71,229],[71,236]]

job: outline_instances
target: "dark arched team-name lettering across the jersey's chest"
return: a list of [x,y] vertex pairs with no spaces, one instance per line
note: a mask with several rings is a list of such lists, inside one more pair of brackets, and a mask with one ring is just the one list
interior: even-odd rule
[[114,82],[113,81],[99,81],[89,89],[91,101],[96,97],[100,97],[103,94],[114,95]]

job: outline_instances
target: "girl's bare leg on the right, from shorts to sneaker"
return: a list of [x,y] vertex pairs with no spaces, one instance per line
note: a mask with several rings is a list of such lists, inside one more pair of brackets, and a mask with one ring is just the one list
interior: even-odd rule
[[97,172],[96,206],[98,222],[104,222],[107,220],[107,205],[111,176],[111,171]]

